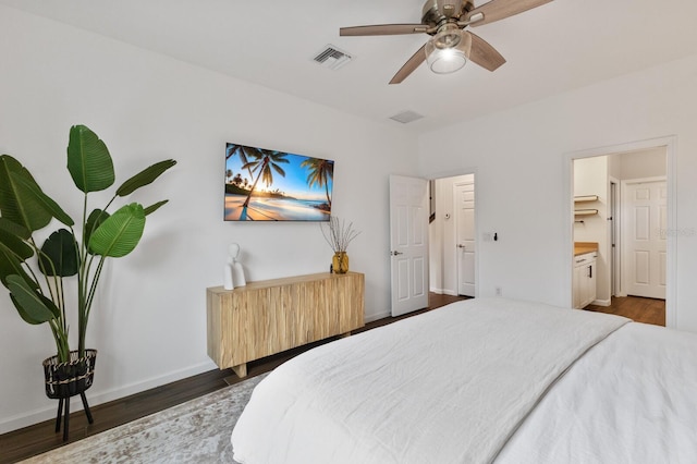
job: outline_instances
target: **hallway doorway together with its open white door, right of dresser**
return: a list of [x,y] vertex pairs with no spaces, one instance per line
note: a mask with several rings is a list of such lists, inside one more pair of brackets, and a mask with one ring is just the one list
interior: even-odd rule
[[391,313],[477,295],[475,174],[390,175]]

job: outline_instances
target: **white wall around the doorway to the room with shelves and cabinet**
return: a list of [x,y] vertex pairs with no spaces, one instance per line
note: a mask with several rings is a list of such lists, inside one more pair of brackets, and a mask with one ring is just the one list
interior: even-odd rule
[[[568,306],[572,154],[675,135],[676,327],[697,332],[697,56],[419,137],[423,175],[476,167],[479,292]],[[457,137],[452,137],[457,134]]]

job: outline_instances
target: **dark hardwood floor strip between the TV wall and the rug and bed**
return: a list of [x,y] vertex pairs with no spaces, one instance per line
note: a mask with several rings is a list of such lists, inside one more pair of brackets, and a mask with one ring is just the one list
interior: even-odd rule
[[[383,319],[368,322],[364,328],[356,330],[356,332],[392,323],[405,317],[411,317],[435,309],[462,298],[462,296],[431,293],[429,295],[428,308],[401,317],[386,317]],[[327,341],[330,340],[332,339]],[[274,356],[248,363],[247,378],[272,370],[288,359],[309,350],[310,347],[326,343],[327,341],[301,346]],[[97,375],[99,375],[99,373],[97,373]],[[75,412],[70,416],[70,436],[65,443],[71,443],[110,428],[118,427],[131,420],[175,406],[240,381],[242,380],[232,373],[232,369],[216,369],[90,407],[95,418],[95,422],[91,425],[87,423],[84,412]],[[89,391],[87,392],[87,399],[89,400]],[[56,403],[56,407],[58,407],[58,402]],[[56,422],[53,419],[0,435],[0,464],[15,463],[65,444],[62,441],[62,432],[56,434],[54,427]]]

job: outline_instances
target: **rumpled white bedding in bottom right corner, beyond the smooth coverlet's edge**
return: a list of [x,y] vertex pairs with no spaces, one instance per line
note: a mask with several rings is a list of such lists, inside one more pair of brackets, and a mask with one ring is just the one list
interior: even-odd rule
[[697,335],[627,323],[583,356],[497,464],[697,463]]

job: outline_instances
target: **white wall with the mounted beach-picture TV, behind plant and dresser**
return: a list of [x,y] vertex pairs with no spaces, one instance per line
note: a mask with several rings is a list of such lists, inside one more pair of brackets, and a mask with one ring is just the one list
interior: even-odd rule
[[[0,57],[0,152],[22,160],[74,217],[81,197],[65,170],[71,125],[105,139],[118,183],[160,159],[179,161],[137,196],[170,203],[101,282],[88,337],[99,350],[91,404],[216,368],[206,355],[205,289],[222,284],[231,242],[243,248],[249,281],[329,270],[332,253],[317,223],[223,222],[225,142],[335,160],[334,212],[363,231],[348,252],[352,270],[366,274],[366,317],[389,314],[388,175],[414,174],[417,155],[403,127],[4,7]],[[40,368],[53,353],[48,327],[22,321],[0,292],[0,432],[53,416]]]

